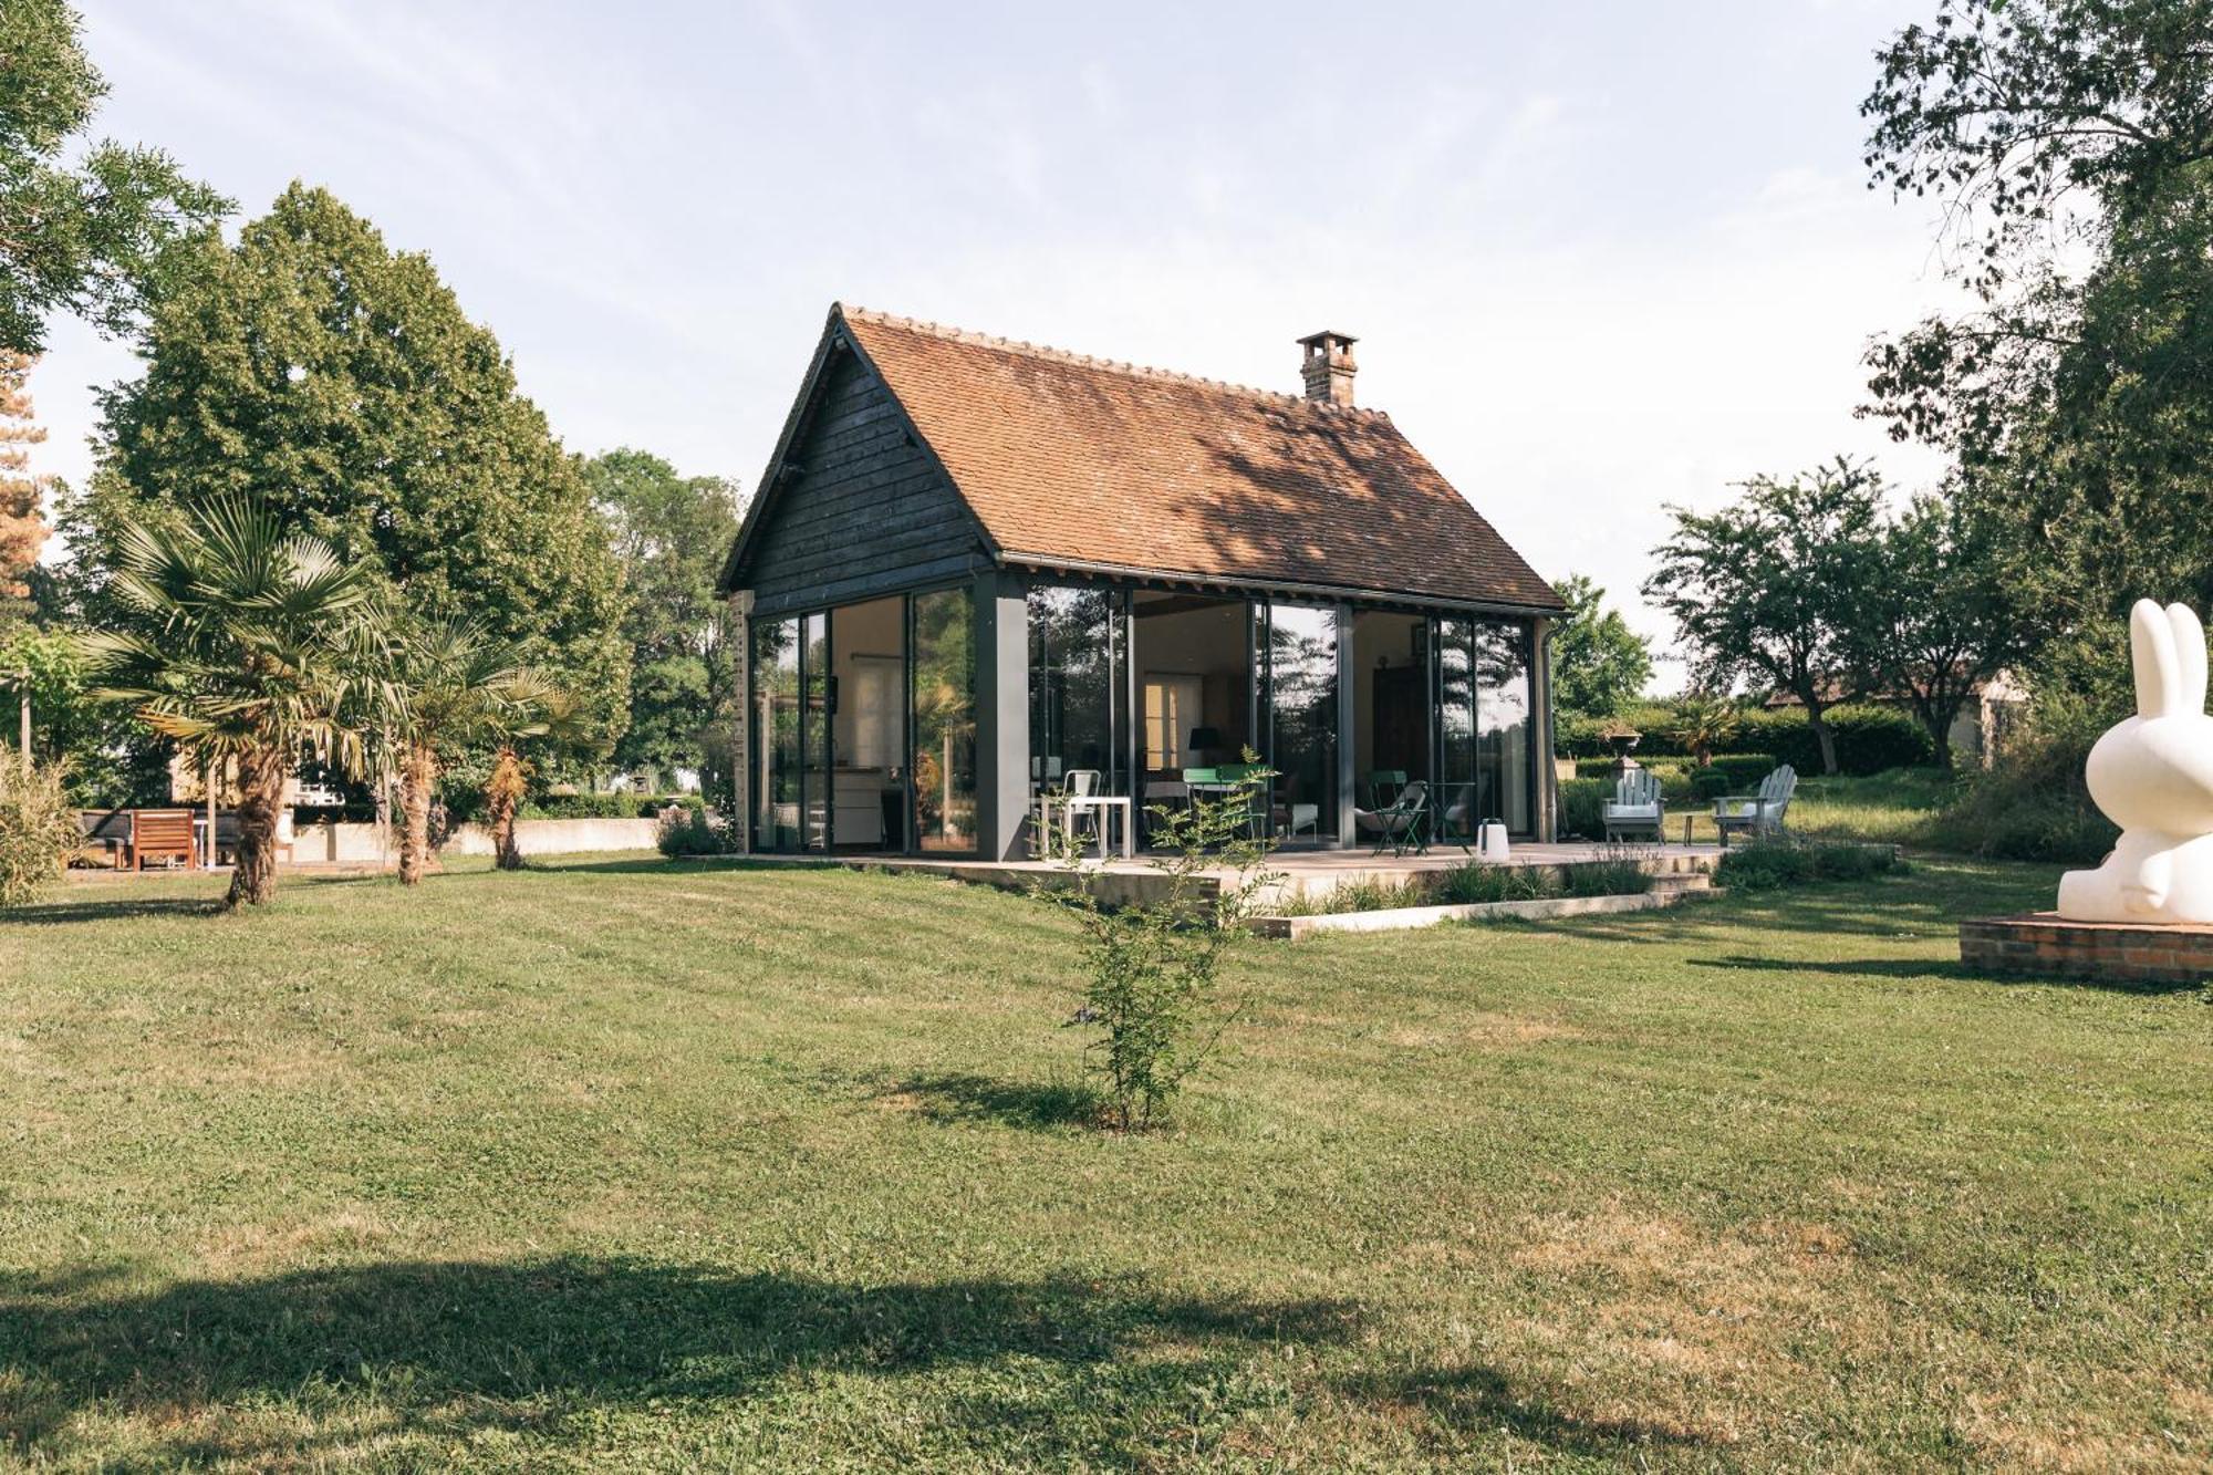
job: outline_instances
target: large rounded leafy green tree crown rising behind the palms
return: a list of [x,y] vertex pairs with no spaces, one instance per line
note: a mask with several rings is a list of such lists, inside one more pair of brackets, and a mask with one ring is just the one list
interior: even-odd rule
[[392,252],[294,184],[164,297],[146,372],[104,396],[102,476],[73,547],[250,496],[285,529],[370,560],[425,618],[476,618],[624,724],[622,574],[584,478],[516,392],[498,341],[427,257]]

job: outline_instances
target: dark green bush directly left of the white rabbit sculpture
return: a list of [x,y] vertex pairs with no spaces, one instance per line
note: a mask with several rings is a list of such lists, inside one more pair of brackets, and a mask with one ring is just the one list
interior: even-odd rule
[[2096,740],[2091,726],[2074,724],[2025,733],[1994,766],[1967,777],[1959,800],[1936,815],[1932,842],[1998,859],[2105,859],[2120,831],[2082,782]]

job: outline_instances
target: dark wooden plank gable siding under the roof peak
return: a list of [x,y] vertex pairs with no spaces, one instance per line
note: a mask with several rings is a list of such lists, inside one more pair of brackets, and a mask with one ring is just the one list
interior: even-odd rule
[[963,578],[989,567],[976,516],[907,430],[883,383],[839,352],[823,365],[792,467],[741,578],[755,616]]

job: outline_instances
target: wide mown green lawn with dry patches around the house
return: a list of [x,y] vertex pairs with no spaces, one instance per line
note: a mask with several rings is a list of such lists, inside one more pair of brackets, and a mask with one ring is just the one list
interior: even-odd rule
[[713,864],[0,921],[0,1464],[2202,1468],[2213,1008],[2051,870],[1253,943],[1087,1125],[1069,921]]

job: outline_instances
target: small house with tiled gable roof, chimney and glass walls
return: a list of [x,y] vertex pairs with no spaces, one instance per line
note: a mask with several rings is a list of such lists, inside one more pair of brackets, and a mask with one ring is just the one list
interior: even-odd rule
[[1299,345],[1272,394],[832,306],[721,576],[750,848],[1018,857],[1071,773],[1142,813],[1244,749],[1284,844],[1376,773],[1549,837],[1560,596]]

